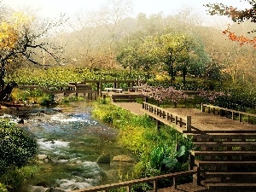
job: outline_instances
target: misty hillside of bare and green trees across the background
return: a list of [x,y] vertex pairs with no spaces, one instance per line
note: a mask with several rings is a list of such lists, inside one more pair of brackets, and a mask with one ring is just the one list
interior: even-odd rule
[[[15,13],[3,3],[1,8],[5,15],[1,20],[15,29],[15,22],[7,19]],[[183,76],[184,81],[187,76],[199,76],[254,82],[255,49],[230,41],[221,28],[202,26],[196,10],[185,7],[173,15],[140,13],[136,17],[131,12],[129,1],[112,0],[94,12],[62,15],[57,20],[22,13],[14,32],[17,39],[12,38],[14,47],[1,44],[9,46],[1,50],[2,67],[8,73],[32,63],[39,67],[126,68],[166,71],[172,78]],[[250,31],[253,22],[243,21],[230,23],[230,30]],[[11,59],[4,59],[8,55]]]

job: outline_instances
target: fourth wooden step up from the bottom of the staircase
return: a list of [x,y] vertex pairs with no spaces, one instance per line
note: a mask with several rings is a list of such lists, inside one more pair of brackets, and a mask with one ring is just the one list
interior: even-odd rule
[[191,151],[195,156],[254,156],[256,160],[256,151]]

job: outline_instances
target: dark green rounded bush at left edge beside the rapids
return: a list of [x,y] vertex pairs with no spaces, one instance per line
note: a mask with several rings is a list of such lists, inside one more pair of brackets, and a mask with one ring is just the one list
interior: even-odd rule
[[0,172],[10,166],[24,166],[38,153],[38,144],[28,132],[0,120]]

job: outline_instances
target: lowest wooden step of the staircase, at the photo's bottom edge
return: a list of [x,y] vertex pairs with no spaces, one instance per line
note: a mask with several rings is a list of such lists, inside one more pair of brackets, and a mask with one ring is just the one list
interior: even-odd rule
[[207,183],[207,189],[219,192],[253,192],[256,189],[256,183]]

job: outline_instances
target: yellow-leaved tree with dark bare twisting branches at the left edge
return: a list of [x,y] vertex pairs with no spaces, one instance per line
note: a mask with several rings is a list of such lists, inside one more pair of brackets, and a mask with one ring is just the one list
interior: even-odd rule
[[8,15],[0,21],[0,90],[4,87],[6,67],[15,60],[22,58],[42,65],[39,59],[44,51],[56,63],[60,63],[61,47],[49,43],[46,38],[51,37],[64,21],[64,15],[59,20],[49,20],[21,12]]

